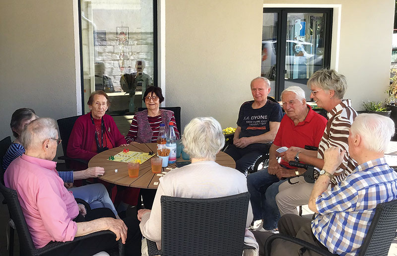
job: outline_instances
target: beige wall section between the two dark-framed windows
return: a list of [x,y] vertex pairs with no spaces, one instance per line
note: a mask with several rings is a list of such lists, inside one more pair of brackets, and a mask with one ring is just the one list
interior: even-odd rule
[[236,126],[261,72],[262,0],[165,1],[166,106]]

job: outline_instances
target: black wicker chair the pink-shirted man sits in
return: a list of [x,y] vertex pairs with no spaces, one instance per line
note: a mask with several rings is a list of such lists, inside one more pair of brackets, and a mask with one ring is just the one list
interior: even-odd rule
[[[86,236],[75,237],[74,240],[70,241],[70,242],[65,242],[65,243],[52,242],[43,248],[36,249],[33,245],[32,237],[30,236],[30,232],[28,230],[28,226],[26,224],[25,217],[23,215],[21,206],[19,204],[17,192],[6,188],[2,182],[0,183],[0,192],[3,194],[3,196],[5,197],[5,200],[7,201],[10,218],[13,219],[15,226],[16,226],[16,231],[17,231],[18,237],[19,237],[19,254],[20,255],[23,255],[23,256],[41,256],[41,255],[50,256],[50,255],[53,255],[53,253],[52,253],[53,250],[59,250],[60,248],[65,247],[69,243],[77,243],[77,242],[82,241],[87,238],[95,238],[95,237],[99,237],[99,236],[103,236],[103,235],[113,235],[115,237],[115,234],[109,230],[99,231],[99,232],[91,233]],[[79,201],[79,202],[81,202],[81,201]],[[87,207],[87,204],[85,204],[85,205]],[[49,205],[48,207],[51,207],[51,206]],[[89,210],[89,208],[87,208],[87,210]],[[118,255],[124,256],[124,245],[121,242],[121,239],[119,240]]]

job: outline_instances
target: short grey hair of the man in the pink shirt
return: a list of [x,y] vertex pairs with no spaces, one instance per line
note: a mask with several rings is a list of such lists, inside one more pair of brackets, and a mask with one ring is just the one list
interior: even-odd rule
[[49,138],[58,135],[57,122],[52,118],[38,118],[30,122],[22,131],[21,142],[25,149],[36,148]]

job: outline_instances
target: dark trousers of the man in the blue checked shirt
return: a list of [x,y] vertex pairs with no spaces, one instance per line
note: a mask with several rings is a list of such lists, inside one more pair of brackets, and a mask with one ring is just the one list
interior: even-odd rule
[[[316,237],[312,233],[312,228],[310,226],[312,219],[300,217],[295,214],[286,214],[281,216],[278,221],[278,231],[280,234],[286,234],[289,236],[293,236],[309,242],[311,244],[317,245],[318,247],[328,250],[323,244],[320,243],[316,239]],[[252,232],[259,244],[259,255],[265,255],[265,242],[268,237],[273,235],[270,232],[260,232],[253,231]],[[302,246],[282,240],[276,239],[271,243],[271,256],[298,256],[299,250]],[[306,251],[304,256],[320,256],[319,254]]]

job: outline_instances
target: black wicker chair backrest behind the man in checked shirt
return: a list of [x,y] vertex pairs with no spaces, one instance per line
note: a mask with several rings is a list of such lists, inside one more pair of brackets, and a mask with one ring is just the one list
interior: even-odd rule
[[359,256],[387,256],[396,237],[397,200],[379,203]]

